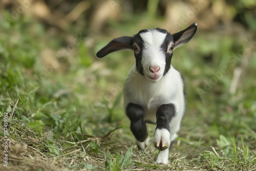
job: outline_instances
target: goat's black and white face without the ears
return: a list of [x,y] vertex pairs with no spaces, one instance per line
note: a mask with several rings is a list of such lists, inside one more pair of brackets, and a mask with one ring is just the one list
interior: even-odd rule
[[163,29],[141,30],[133,37],[136,69],[147,79],[158,81],[170,69],[173,36]]

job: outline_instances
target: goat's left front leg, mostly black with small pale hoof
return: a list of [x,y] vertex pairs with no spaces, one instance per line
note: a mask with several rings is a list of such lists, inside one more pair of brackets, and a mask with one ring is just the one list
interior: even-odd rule
[[131,131],[137,139],[138,147],[144,149],[149,139],[147,126],[144,123],[143,109],[137,104],[129,103],[126,107],[126,115],[131,120]]

